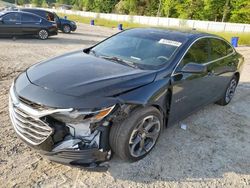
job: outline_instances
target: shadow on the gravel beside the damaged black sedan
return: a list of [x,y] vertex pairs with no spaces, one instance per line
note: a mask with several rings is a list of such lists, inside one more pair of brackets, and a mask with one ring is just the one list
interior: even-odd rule
[[110,174],[134,182],[199,181],[227,173],[250,174],[250,84],[241,83],[228,106],[215,104],[165,129],[155,149],[141,161],[114,157]]

